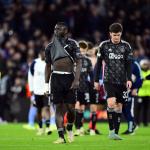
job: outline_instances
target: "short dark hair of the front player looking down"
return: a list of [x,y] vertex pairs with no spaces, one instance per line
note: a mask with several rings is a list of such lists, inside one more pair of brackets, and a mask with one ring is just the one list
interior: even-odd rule
[[113,23],[109,26],[109,32],[118,33],[122,31],[123,31],[123,27],[120,23]]

